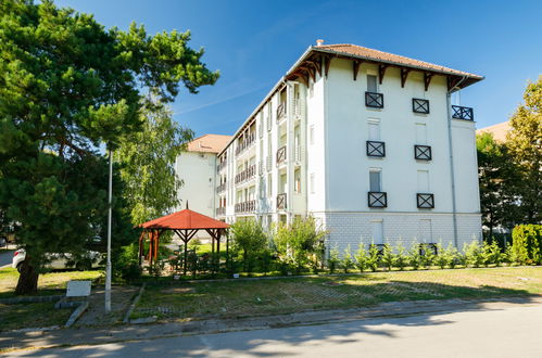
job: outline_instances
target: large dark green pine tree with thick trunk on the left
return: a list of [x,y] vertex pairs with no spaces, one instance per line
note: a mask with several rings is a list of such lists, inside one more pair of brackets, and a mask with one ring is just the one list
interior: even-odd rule
[[[189,33],[104,29],[51,1],[0,2],[0,210],[27,255],[17,293],[37,290],[47,252],[80,255],[103,232],[109,149],[141,130],[150,89],[172,101],[217,73]],[[118,215],[118,220],[122,215]]]

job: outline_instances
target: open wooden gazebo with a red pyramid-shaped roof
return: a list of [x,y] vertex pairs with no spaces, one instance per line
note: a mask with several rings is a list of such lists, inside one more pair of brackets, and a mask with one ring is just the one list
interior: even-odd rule
[[143,222],[139,226],[143,228],[141,236],[139,236],[139,263],[141,264],[141,257],[146,256],[143,253],[143,243],[146,238],[149,239],[149,252],[147,253],[147,259],[152,264],[153,259],[157,258],[159,252],[159,241],[160,235],[165,230],[172,230],[180,236],[185,243],[185,263],[184,271],[187,271],[187,254],[188,254],[188,242],[196,235],[199,230],[205,230],[212,239],[212,251],[214,253],[215,240],[216,240],[216,251],[220,252],[220,236],[229,228],[224,221],[213,219],[200,213],[192,212],[187,208],[180,212],[176,212],[161,218]]

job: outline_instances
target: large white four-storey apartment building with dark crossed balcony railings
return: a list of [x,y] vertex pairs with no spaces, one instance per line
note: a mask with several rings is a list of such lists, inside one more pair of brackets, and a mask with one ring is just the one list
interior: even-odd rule
[[451,94],[481,79],[319,40],[218,153],[215,217],[311,215],[341,252],[400,240],[462,248],[481,232],[475,122]]

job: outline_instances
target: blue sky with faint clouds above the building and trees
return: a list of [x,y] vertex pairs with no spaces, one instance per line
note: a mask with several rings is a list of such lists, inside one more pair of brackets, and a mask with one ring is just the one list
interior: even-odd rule
[[231,135],[293,62],[322,38],[486,76],[462,91],[477,127],[507,120],[542,75],[542,1],[58,0],[106,27],[192,33],[219,69],[213,87],[181,92],[174,117],[198,136]]

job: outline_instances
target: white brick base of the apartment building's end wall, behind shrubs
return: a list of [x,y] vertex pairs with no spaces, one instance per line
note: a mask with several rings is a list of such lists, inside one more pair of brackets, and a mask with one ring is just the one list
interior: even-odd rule
[[[329,231],[327,247],[337,245],[342,254],[348,244],[352,253],[360,242],[373,242],[371,221],[382,220],[383,242],[391,245],[403,243],[409,248],[423,236],[420,220],[431,220],[431,240],[441,242],[445,247],[453,244],[453,216],[451,214],[395,214],[395,213],[314,213],[314,217]],[[427,221],[426,221],[427,222]],[[458,248],[464,243],[481,240],[481,219],[479,214],[457,214]]]

